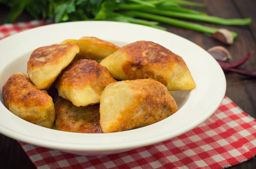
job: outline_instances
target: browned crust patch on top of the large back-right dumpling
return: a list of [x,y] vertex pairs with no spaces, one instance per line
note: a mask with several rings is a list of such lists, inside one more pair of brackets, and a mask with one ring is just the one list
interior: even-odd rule
[[128,58],[128,61],[122,65],[122,70],[129,80],[152,78],[167,85],[166,79],[157,75],[151,68],[170,70],[175,64],[179,64],[189,71],[180,56],[151,41],[133,42],[120,48],[118,52],[125,53]]

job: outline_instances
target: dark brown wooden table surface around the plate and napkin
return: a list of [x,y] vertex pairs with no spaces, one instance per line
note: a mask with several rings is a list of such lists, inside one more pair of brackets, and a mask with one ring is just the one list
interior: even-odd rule
[[[228,28],[236,31],[239,38],[232,46],[226,46],[215,41],[211,37],[195,31],[183,28],[177,28],[171,25],[162,24],[168,28],[168,31],[180,35],[205,50],[212,46],[221,45],[226,47],[233,56],[233,60],[238,60],[250,51],[256,50],[256,0],[192,0],[194,2],[203,2],[207,4],[207,8],[190,7],[204,11],[209,15],[224,18],[244,18],[251,17],[253,22],[249,26],[221,26],[206,24],[216,28]],[[0,25],[9,8],[0,4]],[[24,12],[17,21],[32,20],[26,12]],[[170,39],[171,40],[171,39]],[[200,62],[200,61],[198,61]],[[248,62],[241,66],[242,69],[256,70],[256,56],[252,57]],[[203,70],[202,70],[203,71]],[[256,79],[247,78],[235,73],[226,73],[227,92],[226,95],[232,99],[245,113],[256,118]],[[0,169],[34,169],[35,166],[26,156],[16,140],[8,138],[0,134]],[[241,163],[230,169],[256,169],[256,158]]]

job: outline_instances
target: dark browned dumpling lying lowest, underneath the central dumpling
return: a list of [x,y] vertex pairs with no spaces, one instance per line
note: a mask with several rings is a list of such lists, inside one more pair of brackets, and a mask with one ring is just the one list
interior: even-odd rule
[[66,132],[102,133],[99,125],[99,104],[76,107],[58,97],[55,103],[56,130]]

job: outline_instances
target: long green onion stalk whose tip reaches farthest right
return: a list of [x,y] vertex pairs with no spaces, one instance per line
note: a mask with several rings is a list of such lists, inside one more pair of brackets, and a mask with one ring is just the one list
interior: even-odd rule
[[212,17],[208,15],[198,15],[198,14],[186,14],[186,13],[180,13],[180,12],[173,12],[173,11],[165,11],[160,10],[156,8],[138,8],[139,11],[145,11],[153,14],[160,14],[165,15],[168,17],[178,17],[183,19],[189,19],[189,20],[197,20],[207,23],[215,23],[219,25],[249,25],[251,23],[250,18],[246,19],[224,19],[220,17]]

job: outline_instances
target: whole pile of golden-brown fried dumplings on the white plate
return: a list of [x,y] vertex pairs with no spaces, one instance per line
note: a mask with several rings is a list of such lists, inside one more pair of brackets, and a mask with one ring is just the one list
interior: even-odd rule
[[56,130],[67,132],[154,124],[177,112],[168,90],[195,88],[183,59],[149,41],[119,48],[95,37],[67,39],[33,51],[27,73],[15,73],[3,86],[6,107],[43,127],[55,121]]

